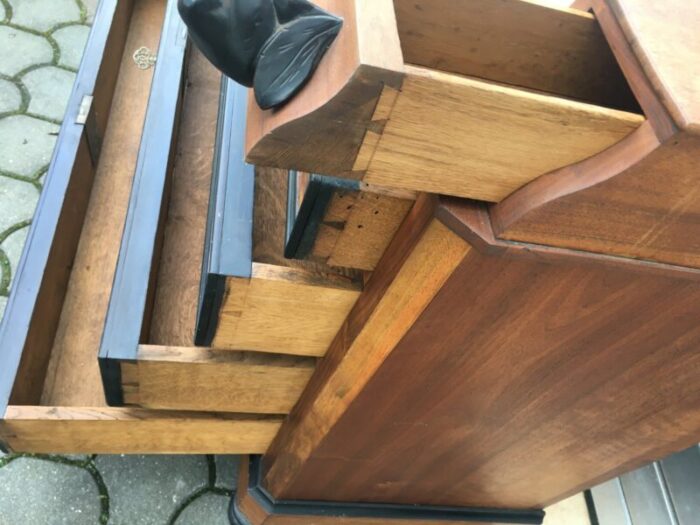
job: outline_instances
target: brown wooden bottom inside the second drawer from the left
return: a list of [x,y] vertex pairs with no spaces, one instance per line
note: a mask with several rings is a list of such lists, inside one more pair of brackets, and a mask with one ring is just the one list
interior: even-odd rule
[[202,272],[221,75],[190,53],[149,342],[191,346]]

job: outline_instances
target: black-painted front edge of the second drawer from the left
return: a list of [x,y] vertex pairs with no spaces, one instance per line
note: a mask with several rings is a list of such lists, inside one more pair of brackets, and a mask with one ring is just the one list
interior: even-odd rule
[[118,363],[134,360],[148,319],[148,299],[167,213],[168,178],[177,140],[177,116],[184,86],[187,31],[168,0],[148,109],[143,127],[114,286],[99,359],[109,405],[122,404]]

